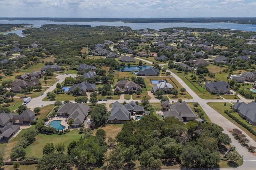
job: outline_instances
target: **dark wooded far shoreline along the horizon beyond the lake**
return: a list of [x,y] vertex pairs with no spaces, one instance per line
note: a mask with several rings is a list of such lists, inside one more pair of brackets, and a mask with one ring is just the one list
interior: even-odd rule
[[0,17],[0,20],[45,20],[56,22],[92,22],[92,21],[120,21],[125,23],[240,23],[256,24],[255,17],[244,18],[7,18]]

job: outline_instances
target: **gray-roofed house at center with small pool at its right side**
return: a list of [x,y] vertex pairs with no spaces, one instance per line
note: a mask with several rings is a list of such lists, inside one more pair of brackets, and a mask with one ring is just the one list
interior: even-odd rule
[[135,102],[130,102],[121,105],[118,101],[114,102],[110,115],[108,116],[108,123],[123,124],[125,121],[130,121],[132,113],[143,114],[144,108],[138,106]]

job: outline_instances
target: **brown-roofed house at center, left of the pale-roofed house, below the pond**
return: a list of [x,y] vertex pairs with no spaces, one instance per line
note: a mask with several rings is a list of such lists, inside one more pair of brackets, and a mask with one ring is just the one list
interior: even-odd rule
[[130,94],[135,93],[137,90],[142,90],[141,86],[129,80],[120,80],[114,85],[115,93],[121,91]]

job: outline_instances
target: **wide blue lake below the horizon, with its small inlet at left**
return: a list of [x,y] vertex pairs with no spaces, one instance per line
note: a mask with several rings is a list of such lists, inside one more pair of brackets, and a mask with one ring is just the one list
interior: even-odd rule
[[[45,24],[68,24],[68,25],[91,25],[92,27],[100,26],[100,25],[108,25],[108,26],[128,26],[133,30],[135,29],[163,29],[170,27],[191,27],[191,28],[221,28],[221,29],[235,29],[235,30],[243,30],[243,31],[255,31],[256,25],[252,24],[238,24],[238,23],[124,23],[124,22],[100,22],[100,21],[92,21],[92,22],[56,22],[56,21],[43,21],[43,20],[35,20],[35,21],[26,21],[26,20],[0,20],[0,23],[28,23],[33,24],[33,27],[39,28],[41,25]],[[17,35],[22,35],[22,30],[16,30],[9,33],[16,33]],[[8,34],[8,33],[5,33]]]

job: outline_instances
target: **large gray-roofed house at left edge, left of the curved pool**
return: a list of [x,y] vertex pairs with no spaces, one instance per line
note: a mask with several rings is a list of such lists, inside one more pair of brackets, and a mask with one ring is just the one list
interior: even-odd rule
[[33,111],[26,109],[20,115],[14,113],[0,113],[0,140],[6,142],[20,130],[20,125],[28,125],[36,120]]

